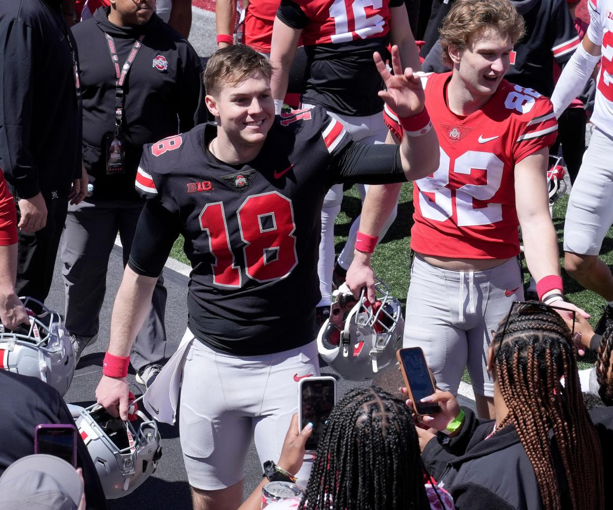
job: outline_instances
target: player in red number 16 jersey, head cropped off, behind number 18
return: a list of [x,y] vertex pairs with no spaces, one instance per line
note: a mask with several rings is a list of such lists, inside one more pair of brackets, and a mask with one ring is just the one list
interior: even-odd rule
[[[272,92],[277,105],[287,91],[289,71],[302,37],[307,54],[307,83],[302,105],[320,105],[340,121],[354,140],[384,143],[381,117],[383,81],[372,61],[373,51],[387,53],[398,45],[402,66],[421,69],[403,0],[283,0],[276,13],[270,62],[275,68]],[[364,197],[365,187],[357,186]],[[318,323],[330,312],[334,266],[334,222],[341,209],[343,186],[332,186],[321,212]],[[395,204],[383,230],[396,215]],[[350,250],[349,250],[350,251]],[[338,267],[343,268],[343,255]],[[348,264],[340,272],[345,272]]]

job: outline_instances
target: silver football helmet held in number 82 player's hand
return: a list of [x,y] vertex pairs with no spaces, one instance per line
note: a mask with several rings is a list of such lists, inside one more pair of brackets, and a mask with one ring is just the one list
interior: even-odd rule
[[386,283],[376,280],[376,301],[355,299],[345,283],[334,291],[330,318],[317,336],[320,356],[345,379],[371,379],[395,361],[402,347],[405,321],[400,301],[390,296]]

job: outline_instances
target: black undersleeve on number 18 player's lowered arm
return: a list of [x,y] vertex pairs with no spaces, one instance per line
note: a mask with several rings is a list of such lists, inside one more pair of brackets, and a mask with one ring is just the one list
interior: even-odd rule
[[157,200],[148,200],[136,225],[128,266],[136,274],[157,278],[178,235],[176,217]]

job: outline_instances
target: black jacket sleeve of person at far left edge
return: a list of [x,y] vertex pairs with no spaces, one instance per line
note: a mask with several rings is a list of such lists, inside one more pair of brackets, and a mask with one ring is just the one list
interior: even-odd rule
[[21,21],[0,21],[0,166],[20,198],[32,198],[40,191],[30,148],[32,81],[37,66],[32,52],[34,47],[42,47],[36,37],[36,32]]

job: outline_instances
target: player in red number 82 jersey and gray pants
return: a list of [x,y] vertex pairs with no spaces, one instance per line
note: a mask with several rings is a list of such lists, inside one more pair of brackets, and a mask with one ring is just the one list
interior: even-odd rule
[[[441,159],[435,173],[415,183],[415,257],[403,343],[423,348],[441,389],[457,393],[468,366],[481,416],[493,416],[486,366],[491,332],[512,302],[524,297],[518,226],[539,298],[584,313],[563,301],[549,214],[547,150],[557,132],[552,104],[503,79],[523,32],[511,2],[457,0],[441,29],[443,58],[452,72],[424,77]],[[403,140],[418,134],[398,126],[393,112],[386,120]],[[364,246],[372,246],[368,241],[379,233],[385,220],[381,196],[390,192],[373,187],[365,201],[362,244],[356,244],[347,278],[354,292],[372,285],[371,254]]]

